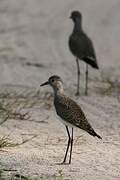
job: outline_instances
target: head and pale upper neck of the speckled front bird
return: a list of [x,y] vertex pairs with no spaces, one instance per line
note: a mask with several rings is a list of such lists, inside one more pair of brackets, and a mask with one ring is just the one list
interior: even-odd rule
[[41,84],[40,86],[45,86],[45,85],[50,85],[54,89],[55,93],[56,92],[63,92],[63,82],[61,78],[57,75],[51,76],[48,81],[45,83]]

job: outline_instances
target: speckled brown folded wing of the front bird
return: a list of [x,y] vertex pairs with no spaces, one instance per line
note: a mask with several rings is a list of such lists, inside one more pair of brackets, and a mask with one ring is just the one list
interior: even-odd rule
[[87,132],[89,132],[90,129],[92,130],[92,127],[88,123],[82,109],[72,99],[65,96],[60,98],[60,100],[59,99],[55,100],[54,103],[57,114],[63,120]]

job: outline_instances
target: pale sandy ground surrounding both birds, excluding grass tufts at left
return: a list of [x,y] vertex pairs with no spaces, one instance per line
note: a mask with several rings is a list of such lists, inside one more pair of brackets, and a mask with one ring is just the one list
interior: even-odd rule
[[[76,64],[68,49],[73,24],[71,10],[83,13],[83,25],[93,39],[100,71],[90,69],[89,96],[77,99]],[[120,179],[120,2],[119,0],[1,0],[0,94],[28,94],[37,105],[24,107],[29,120],[8,119],[0,136],[13,143],[28,142],[0,151],[0,168],[40,179]],[[102,141],[75,129],[71,165],[58,165],[64,157],[67,134],[49,98],[50,88],[39,87],[58,74],[66,94],[75,99]],[[38,95],[38,96],[37,96]],[[13,96],[12,96],[13,97]],[[45,102],[45,103],[44,103]],[[29,103],[29,101],[28,101]],[[1,119],[2,121],[2,119]]]

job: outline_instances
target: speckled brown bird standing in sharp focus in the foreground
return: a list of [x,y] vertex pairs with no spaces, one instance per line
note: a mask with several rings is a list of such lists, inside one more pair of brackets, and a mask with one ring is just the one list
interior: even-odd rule
[[[46,82],[44,82],[40,86],[45,85],[50,85],[53,88],[55,110],[57,115],[60,117],[61,122],[65,125],[68,134],[68,144],[63,162],[61,164],[71,164],[74,127],[80,128],[89,133],[90,135],[97,137],[99,139],[102,139],[102,137],[94,131],[94,129],[88,122],[84,112],[82,111],[81,107],[74,100],[65,95],[63,81],[59,76],[51,76]],[[70,128],[72,128],[71,134]],[[66,163],[69,147],[69,161],[68,163]]]

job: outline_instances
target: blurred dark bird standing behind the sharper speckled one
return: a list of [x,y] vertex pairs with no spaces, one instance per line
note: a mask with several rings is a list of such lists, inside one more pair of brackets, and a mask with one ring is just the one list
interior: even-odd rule
[[92,40],[87,36],[82,28],[82,14],[79,11],[72,11],[70,18],[74,23],[72,34],[69,36],[68,45],[72,54],[76,57],[77,63],[77,91],[80,95],[80,66],[79,60],[86,62],[86,83],[85,95],[88,95],[88,65],[99,69],[95,49]]

